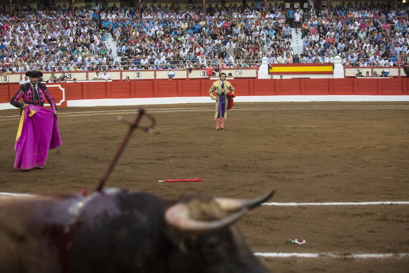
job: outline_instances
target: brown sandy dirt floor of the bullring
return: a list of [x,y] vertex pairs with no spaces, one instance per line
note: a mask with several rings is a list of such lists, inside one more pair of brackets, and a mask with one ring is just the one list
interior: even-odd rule
[[[107,187],[166,198],[275,188],[270,202],[409,201],[407,102],[236,103],[220,131],[213,105],[146,106],[155,130],[133,133]],[[128,130],[116,117],[132,120],[136,109],[61,108],[63,145],[29,172],[13,168],[19,111],[0,111],[0,192],[92,192]],[[204,181],[157,182],[175,178]],[[260,253],[409,253],[409,205],[263,205],[239,225]],[[285,242],[296,238],[307,243]],[[260,259],[272,272],[409,271],[409,257]]]

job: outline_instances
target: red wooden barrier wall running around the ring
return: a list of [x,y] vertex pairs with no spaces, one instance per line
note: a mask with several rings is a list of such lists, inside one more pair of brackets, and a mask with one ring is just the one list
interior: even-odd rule
[[[407,78],[347,79],[231,79],[238,96],[274,95],[408,95]],[[135,80],[70,82],[60,84],[67,100],[150,97],[205,97],[214,80]],[[47,84],[50,85],[50,84]],[[52,85],[52,84],[51,84]],[[10,102],[20,85],[0,85],[0,103]],[[58,87],[49,88],[61,97]],[[65,105],[62,104],[62,107]]]

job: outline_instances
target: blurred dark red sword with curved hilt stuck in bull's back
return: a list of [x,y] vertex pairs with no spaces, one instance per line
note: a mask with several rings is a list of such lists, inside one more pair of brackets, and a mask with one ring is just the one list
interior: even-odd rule
[[[140,122],[143,115],[146,115],[146,117],[148,117],[151,120],[151,125],[150,126],[139,126],[139,122]],[[129,120],[126,120],[121,116],[117,117],[117,120],[119,120],[120,122],[123,122],[125,124],[128,124],[129,125],[129,131],[126,134],[124,140],[122,141],[121,146],[119,147],[119,149],[118,149],[117,153],[115,154],[114,158],[112,158],[111,164],[109,165],[108,169],[106,170],[105,175],[99,181],[99,186],[97,188],[98,192],[101,192],[106,180],[108,180],[108,176],[111,174],[112,170],[114,169],[115,163],[117,162],[119,156],[121,155],[122,151],[124,150],[126,142],[128,142],[132,131],[135,128],[139,128],[139,129],[142,129],[143,131],[146,131],[148,133],[152,133],[153,132],[152,128],[155,126],[155,123],[156,123],[155,117],[153,117],[149,113],[146,113],[145,108],[143,108],[143,107],[139,107],[139,113],[138,113],[138,115],[137,115],[134,122],[130,122]]]

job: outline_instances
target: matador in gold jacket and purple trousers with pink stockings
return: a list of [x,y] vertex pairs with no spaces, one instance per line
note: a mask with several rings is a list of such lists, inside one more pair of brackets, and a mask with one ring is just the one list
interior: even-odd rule
[[[229,92],[234,94],[234,88],[226,81],[226,73],[220,73],[220,80],[215,81],[209,90],[209,94],[212,100],[216,100],[216,114],[214,119],[216,120],[216,130],[226,130],[225,120],[227,118],[227,93]],[[216,91],[216,97],[213,95],[213,91]],[[219,121],[221,119],[220,127]]]

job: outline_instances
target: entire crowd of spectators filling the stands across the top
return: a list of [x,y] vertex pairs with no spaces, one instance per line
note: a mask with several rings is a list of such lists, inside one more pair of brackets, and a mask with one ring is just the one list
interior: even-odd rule
[[[393,2],[394,3],[394,2]],[[392,4],[392,2],[391,2]],[[178,2],[109,7],[55,5],[40,0],[0,9],[1,71],[92,71],[256,68],[268,63],[333,63],[396,66],[407,62],[408,6],[388,2],[309,0],[307,9],[264,1],[206,7]],[[299,20],[302,54],[292,50],[291,27]],[[297,31],[298,29],[296,29]],[[108,50],[111,34],[117,49]],[[116,58],[116,56],[120,56]],[[209,68],[209,69],[208,69]]]

